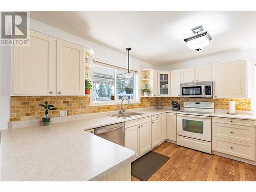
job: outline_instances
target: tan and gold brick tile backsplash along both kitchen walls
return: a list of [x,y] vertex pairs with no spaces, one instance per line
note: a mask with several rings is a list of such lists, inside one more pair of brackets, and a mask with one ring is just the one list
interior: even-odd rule
[[[215,109],[228,109],[228,103],[231,99],[202,99],[202,98],[179,98],[179,97],[141,97],[140,103],[134,103],[132,106],[124,105],[127,109],[145,108],[161,104],[172,106],[172,100],[177,100],[180,106],[184,101],[209,101],[215,102]],[[250,111],[250,99],[232,99],[236,101],[236,110]],[[68,116],[81,115],[89,113],[98,113],[106,111],[115,111],[120,109],[120,105],[102,105],[90,106],[90,97],[31,97],[31,96],[12,96],[10,121],[23,121],[29,119],[40,119],[44,116],[44,108],[38,106],[40,103],[48,101],[58,110],[49,111],[50,117],[59,117],[59,111],[67,110]]]

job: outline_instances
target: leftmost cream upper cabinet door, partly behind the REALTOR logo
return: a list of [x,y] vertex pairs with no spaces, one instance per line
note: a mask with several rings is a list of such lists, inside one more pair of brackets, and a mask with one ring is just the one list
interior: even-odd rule
[[13,47],[13,95],[53,95],[54,39],[30,30],[29,46]]

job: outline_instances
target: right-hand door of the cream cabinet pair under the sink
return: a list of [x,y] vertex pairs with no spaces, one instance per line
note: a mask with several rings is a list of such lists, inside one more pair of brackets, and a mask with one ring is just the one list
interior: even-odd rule
[[151,149],[151,122],[140,125],[140,155]]

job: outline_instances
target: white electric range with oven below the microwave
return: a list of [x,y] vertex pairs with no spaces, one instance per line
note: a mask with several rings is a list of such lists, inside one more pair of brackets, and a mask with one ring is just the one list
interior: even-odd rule
[[214,102],[184,102],[177,113],[177,144],[211,154],[211,114]]

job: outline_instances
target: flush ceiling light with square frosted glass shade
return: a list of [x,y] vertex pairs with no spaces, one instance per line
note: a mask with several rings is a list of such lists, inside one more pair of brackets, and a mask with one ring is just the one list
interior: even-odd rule
[[[208,31],[204,31],[203,26],[198,26],[191,29],[196,35],[185,38],[184,41],[187,43],[187,47],[193,50],[200,51],[203,47],[209,45],[209,41],[212,39]],[[199,33],[202,32],[202,33]]]

